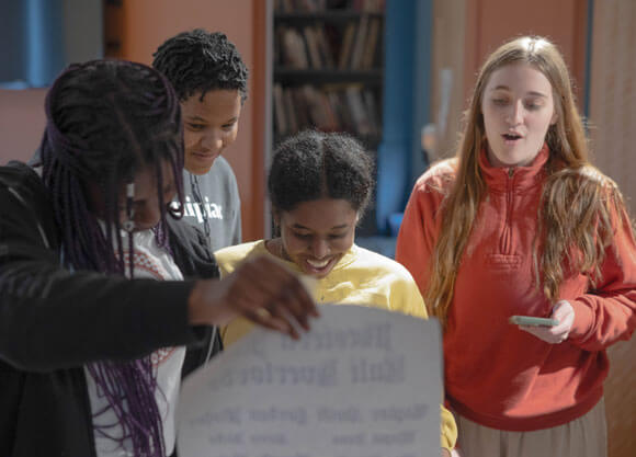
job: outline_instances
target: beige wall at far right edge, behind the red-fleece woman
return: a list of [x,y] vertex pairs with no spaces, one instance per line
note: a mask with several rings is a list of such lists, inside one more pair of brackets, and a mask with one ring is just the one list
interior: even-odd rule
[[[590,129],[594,162],[636,212],[636,2],[594,2]],[[636,338],[611,347],[605,403],[610,457],[636,453]]]

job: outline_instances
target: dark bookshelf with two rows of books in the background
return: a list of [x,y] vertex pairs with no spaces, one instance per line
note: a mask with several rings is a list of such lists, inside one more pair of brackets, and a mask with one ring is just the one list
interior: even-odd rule
[[372,150],[382,138],[384,4],[274,2],[273,137],[303,128],[348,132]]

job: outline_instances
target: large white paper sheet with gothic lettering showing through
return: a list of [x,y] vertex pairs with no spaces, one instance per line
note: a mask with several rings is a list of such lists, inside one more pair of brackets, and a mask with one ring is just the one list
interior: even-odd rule
[[438,322],[320,313],[299,341],[254,330],[184,380],[180,457],[440,455]]

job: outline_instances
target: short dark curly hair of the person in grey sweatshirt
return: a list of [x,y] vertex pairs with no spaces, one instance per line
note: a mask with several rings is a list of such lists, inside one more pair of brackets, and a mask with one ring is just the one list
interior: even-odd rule
[[224,33],[182,32],[167,39],[152,57],[152,67],[166,75],[181,101],[196,93],[203,100],[207,91],[218,89],[236,89],[242,102],[247,99],[248,69]]

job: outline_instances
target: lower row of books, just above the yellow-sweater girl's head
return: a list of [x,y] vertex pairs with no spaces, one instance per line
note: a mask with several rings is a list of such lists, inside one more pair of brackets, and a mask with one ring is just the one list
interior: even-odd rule
[[303,128],[350,132],[361,137],[379,137],[382,119],[377,93],[361,84],[317,88],[311,84],[274,84],[274,129],[279,137]]

